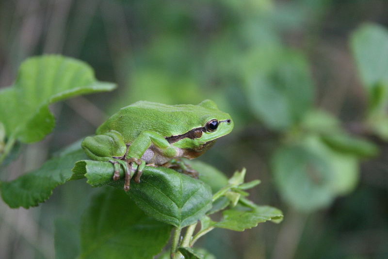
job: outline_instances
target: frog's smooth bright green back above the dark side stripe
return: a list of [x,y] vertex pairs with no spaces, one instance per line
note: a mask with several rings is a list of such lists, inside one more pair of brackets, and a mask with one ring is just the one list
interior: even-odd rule
[[182,134],[202,127],[203,117],[213,112],[198,105],[167,105],[138,101],[121,108],[96,131],[102,134],[111,130],[120,132],[127,143],[131,143],[142,131],[150,130],[164,137]]

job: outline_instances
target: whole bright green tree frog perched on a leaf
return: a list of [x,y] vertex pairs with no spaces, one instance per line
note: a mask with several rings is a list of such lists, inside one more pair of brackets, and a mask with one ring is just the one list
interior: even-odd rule
[[[209,125],[214,121],[217,127]],[[137,172],[135,182],[140,182],[146,164],[198,157],[232,129],[230,115],[211,100],[198,105],[138,101],[113,114],[81,146],[91,159],[113,163],[114,180],[122,166],[128,191],[132,173]]]

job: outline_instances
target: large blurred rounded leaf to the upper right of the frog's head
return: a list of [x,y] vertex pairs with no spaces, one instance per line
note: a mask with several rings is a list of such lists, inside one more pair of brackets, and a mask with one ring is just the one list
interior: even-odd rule
[[306,58],[274,47],[253,49],[243,60],[246,97],[256,117],[276,130],[300,121],[314,99]]

